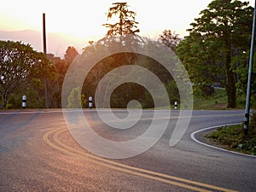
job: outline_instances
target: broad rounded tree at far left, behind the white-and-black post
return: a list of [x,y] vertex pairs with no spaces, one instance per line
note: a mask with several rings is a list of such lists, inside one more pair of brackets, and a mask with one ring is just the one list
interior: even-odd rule
[[29,44],[0,41],[0,93],[5,108],[9,95],[32,84],[32,79],[48,74],[49,61],[42,53],[33,50]]

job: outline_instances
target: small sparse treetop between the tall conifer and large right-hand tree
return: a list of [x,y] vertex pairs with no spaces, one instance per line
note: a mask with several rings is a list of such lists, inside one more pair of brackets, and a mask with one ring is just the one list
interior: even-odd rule
[[163,34],[158,38],[159,42],[162,44],[166,44],[167,47],[171,48],[172,51],[176,51],[177,45],[182,40],[178,37],[178,34],[172,32],[171,30],[165,30]]

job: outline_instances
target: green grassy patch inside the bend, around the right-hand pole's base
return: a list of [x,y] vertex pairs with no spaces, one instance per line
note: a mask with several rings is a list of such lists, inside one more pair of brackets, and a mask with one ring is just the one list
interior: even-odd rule
[[205,137],[220,148],[256,155],[256,113],[251,117],[247,136],[243,134],[243,125],[230,125],[220,127]]

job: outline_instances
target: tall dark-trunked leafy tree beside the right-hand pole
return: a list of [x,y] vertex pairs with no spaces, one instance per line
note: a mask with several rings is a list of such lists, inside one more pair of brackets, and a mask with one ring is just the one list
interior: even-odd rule
[[193,26],[189,29],[190,34],[199,33],[205,41],[210,39],[215,49],[222,52],[219,59],[224,64],[228,108],[236,108],[236,73],[231,66],[232,56],[237,48],[247,50],[252,17],[253,8],[246,2],[214,0],[201,11],[201,17],[190,24]]

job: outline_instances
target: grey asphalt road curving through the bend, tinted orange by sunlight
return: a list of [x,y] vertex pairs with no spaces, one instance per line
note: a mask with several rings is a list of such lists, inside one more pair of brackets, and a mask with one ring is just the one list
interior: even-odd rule
[[[117,110],[117,116],[125,112]],[[125,141],[140,129],[106,127],[96,111],[84,111],[102,137]],[[256,191],[256,158],[195,143],[190,134],[213,125],[239,123],[244,111],[194,111],[189,127],[170,147],[178,111],[158,143],[143,154],[109,160],[82,148],[67,130],[61,110],[0,112],[0,191]],[[125,133],[125,134],[124,134]],[[199,137],[196,136],[195,137]]]

